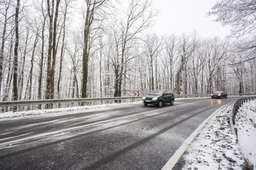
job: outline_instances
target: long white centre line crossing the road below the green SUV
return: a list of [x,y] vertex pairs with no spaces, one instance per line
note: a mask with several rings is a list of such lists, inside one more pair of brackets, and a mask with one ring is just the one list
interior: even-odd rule
[[[171,108],[176,108],[176,107],[185,106],[185,105],[192,105],[192,104],[200,103],[200,102],[203,102],[203,101],[196,101],[196,102],[193,102],[193,103],[184,103],[184,104],[181,104],[181,105],[178,105],[178,106],[172,106]],[[160,109],[157,109],[157,110],[154,110],[154,111],[162,111],[162,110],[165,110],[165,109],[167,109],[167,108],[160,108]],[[16,142],[22,142],[24,140],[31,140],[31,139],[36,138],[36,137],[43,137],[43,136],[46,136],[46,135],[53,135],[53,134],[57,134],[57,133],[60,133],[60,132],[65,132],[65,131],[68,131],[68,130],[74,130],[74,129],[78,129],[78,128],[85,128],[85,127],[90,126],[90,125],[97,125],[97,124],[100,124],[100,123],[106,123],[106,122],[110,122],[110,121],[113,121],[113,120],[119,120],[119,119],[122,119],[122,118],[130,118],[130,117],[133,117],[133,116],[136,116],[136,115],[142,115],[142,114],[151,113],[151,112],[154,112],[154,111],[146,111],[146,112],[137,113],[137,114],[134,114],[134,115],[127,115],[127,116],[123,116],[123,117],[119,117],[119,118],[114,118],[114,119],[111,119],[111,120],[103,120],[103,121],[100,121],[100,122],[97,122],[97,123],[90,123],[90,124],[87,124],[87,125],[81,125],[81,126],[77,126],[77,127],[73,127],[73,128],[57,130],[57,131],[54,131],[54,132],[46,132],[46,133],[42,133],[42,134],[39,134],[39,135],[33,135],[31,137],[24,137],[24,138],[21,138],[21,139],[18,139],[18,140],[11,140],[11,141],[8,141],[8,142],[2,142],[2,143],[0,143],[0,147],[3,146],[3,145],[9,145],[9,144],[16,143]],[[5,139],[1,139],[1,140],[5,140]]]

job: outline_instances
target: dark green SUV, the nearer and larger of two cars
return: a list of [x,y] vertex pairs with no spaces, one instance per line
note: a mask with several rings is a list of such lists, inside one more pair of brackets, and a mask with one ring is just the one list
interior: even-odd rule
[[146,97],[143,97],[144,106],[148,104],[163,106],[164,103],[174,104],[174,94],[170,90],[154,90]]

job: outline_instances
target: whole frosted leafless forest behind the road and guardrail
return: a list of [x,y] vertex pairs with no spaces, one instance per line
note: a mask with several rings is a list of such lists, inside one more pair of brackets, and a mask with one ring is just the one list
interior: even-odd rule
[[255,93],[255,6],[220,1],[208,15],[232,35],[204,38],[151,33],[146,0],[1,0],[0,101]]

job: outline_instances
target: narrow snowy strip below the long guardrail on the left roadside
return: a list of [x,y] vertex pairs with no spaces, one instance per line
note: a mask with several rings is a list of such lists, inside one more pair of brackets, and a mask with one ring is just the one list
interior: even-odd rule
[[110,103],[110,104],[102,104],[102,105],[93,105],[93,106],[76,106],[71,108],[53,108],[53,109],[45,109],[45,110],[33,110],[33,111],[20,111],[20,112],[5,112],[0,113],[0,119],[3,118],[18,118],[28,115],[43,115],[43,114],[49,114],[49,113],[59,113],[59,112],[66,112],[66,111],[82,111],[92,108],[109,108],[114,106],[125,106],[125,105],[131,105],[131,104],[138,104],[142,103],[142,101],[135,101],[135,102],[129,102],[129,103]]

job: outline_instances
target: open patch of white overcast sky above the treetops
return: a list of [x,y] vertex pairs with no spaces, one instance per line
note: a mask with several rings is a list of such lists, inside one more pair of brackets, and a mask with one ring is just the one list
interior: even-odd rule
[[218,35],[223,38],[229,35],[230,28],[223,28],[220,23],[213,21],[212,16],[206,15],[216,2],[217,0],[154,0],[153,6],[160,13],[152,31],[159,35],[181,35],[197,30],[203,37]]

